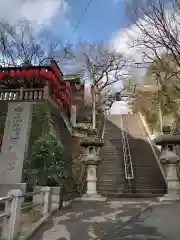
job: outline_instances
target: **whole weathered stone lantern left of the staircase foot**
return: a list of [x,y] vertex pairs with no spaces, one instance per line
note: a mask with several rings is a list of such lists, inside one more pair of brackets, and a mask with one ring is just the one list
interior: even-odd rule
[[82,200],[106,201],[106,198],[99,195],[96,189],[97,167],[101,162],[98,148],[103,146],[103,142],[99,139],[88,138],[81,142],[81,146],[85,148],[82,162],[87,166],[87,192],[83,195]]

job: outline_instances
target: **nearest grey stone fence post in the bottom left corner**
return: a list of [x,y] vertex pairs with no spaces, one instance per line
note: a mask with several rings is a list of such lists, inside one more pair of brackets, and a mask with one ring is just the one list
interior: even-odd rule
[[13,199],[5,203],[5,211],[11,215],[3,221],[3,239],[14,240],[18,237],[20,231],[21,196],[22,191],[20,189],[8,192],[8,197],[13,197]]

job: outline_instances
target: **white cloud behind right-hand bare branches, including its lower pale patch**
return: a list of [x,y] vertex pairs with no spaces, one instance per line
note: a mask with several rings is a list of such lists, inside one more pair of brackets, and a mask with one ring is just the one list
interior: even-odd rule
[[[177,32],[177,29],[179,29],[180,25],[179,25],[179,15],[175,14],[172,12],[172,10],[169,8],[165,11],[165,15],[166,15],[166,22],[167,22],[167,26],[168,26],[168,31],[171,31],[172,34],[174,35],[174,32]],[[176,21],[173,21],[173,17],[176,18]],[[144,26],[146,29],[148,29],[148,32],[151,33],[155,39],[158,38],[162,38],[162,36],[164,36],[164,39],[166,39],[166,42],[169,42],[170,40],[164,35],[164,32],[162,30],[162,32],[160,33],[157,28],[155,28],[155,26],[153,24],[151,24],[151,20],[144,18],[144,19],[140,19],[138,20],[138,23],[141,26]],[[180,38],[180,35],[179,35]],[[147,46],[143,46],[143,45],[139,45],[136,46],[135,43],[136,42],[141,42],[143,43],[143,39],[146,40],[146,43],[149,41],[150,43],[153,43],[153,46],[156,47],[156,52],[158,53],[158,55],[161,55],[163,52],[166,52],[167,50],[165,49],[165,47],[163,46],[163,44],[157,45],[157,42],[154,41],[152,39],[149,39],[147,36],[144,35],[143,32],[141,32],[141,30],[139,29],[139,27],[136,24],[132,24],[127,28],[121,29],[119,32],[115,33],[114,37],[111,40],[111,46],[113,49],[115,49],[117,52],[120,52],[123,54],[123,56],[128,59],[128,60],[132,60],[134,62],[151,62],[152,58],[155,57],[155,53],[153,50],[151,50],[150,48],[152,47],[151,44],[149,44],[150,48],[148,48]],[[171,44],[171,42],[169,42],[169,44]],[[145,56],[145,54],[148,55],[150,58],[147,58]],[[132,64],[132,63],[131,63]],[[144,73],[146,72],[146,67],[148,66],[148,64],[143,64],[144,68],[141,69],[137,69],[137,65],[133,65],[132,64],[132,68],[131,68],[131,72],[138,76],[139,78],[139,74],[141,74],[141,77],[143,77]],[[140,78],[141,78],[140,77]]]

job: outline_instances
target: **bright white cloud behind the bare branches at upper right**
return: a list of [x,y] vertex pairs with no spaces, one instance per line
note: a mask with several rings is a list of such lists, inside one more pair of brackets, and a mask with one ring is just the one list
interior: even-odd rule
[[[179,12],[174,12],[168,5],[164,12],[168,32],[171,32],[173,36],[177,33],[180,38],[178,31],[180,28]],[[154,20],[144,17],[143,19],[139,19],[137,23],[138,25],[143,26],[150,35],[154,36],[154,39],[162,39],[163,36],[166,42],[170,42],[170,39],[168,39],[167,35],[164,33],[163,27],[159,27],[159,29],[157,29],[157,25],[154,24]],[[161,22],[158,22],[158,25],[161,26]],[[146,41],[146,46],[143,45],[144,40]],[[138,43],[138,46],[136,43]],[[152,46],[156,47],[158,54],[162,54],[167,51],[163,43],[158,45],[156,40],[153,40],[144,34],[144,32],[142,32],[136,24],[132,24],[129,27],[121,29],[119,32],[115,33],[115,36],[112,38],[111,45],[117,52],[122,53],[126,58],[135,60],[136,62],[141,62],[144,59],[144,52],[146,52],[146,55],[151,58],[155,57],[154,51],[150,49]]]

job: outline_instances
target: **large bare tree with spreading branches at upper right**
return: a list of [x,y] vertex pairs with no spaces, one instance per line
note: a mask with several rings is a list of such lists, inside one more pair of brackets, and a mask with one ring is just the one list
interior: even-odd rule
[[[127,0],[129,18],[140,30],[131,47],[143,52],[142,62],[152,62],[148,79],[157,86],[159,121],[162,125],[164,98],[171,106],[179,99],[180,83],[180,1]],[[171,92],[167,93],[167,86]],[[175,90],[173,90],[173,88]],[[176,96],[175,96],[175,93]],[[172,106],[171,106],[172,107]],[[161,126],[162,128],[162,126]]]

